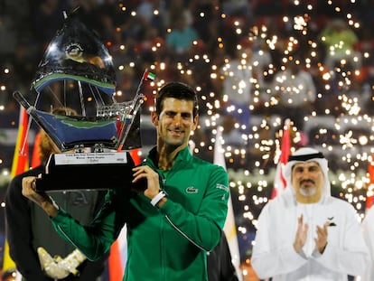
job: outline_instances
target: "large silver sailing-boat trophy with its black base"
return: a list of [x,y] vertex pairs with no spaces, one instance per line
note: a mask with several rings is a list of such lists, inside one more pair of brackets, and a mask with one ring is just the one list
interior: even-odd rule
[[[51,155],[36,184],[41,191],[122,186],[124,178],[131,178],[134,165],[128,151],[141,147],[142,85],[154,75],[145,70],[135,97],[117,102],[112,58],[78,12],[65,16],[30,91],[14,92],[31,120],[61,150]],[[56,115],[53,108],[72,108],[78,114]]]

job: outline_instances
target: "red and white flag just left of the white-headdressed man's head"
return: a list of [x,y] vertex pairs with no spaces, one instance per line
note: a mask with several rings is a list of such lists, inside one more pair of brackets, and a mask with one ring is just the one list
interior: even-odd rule
[[281,155],[279,157],[278,164],[276,165],[276,178],[274,179],[273,192],[271,198],[275,198],[277,194],[282,192],[285,187],[285,177],[283,176],[283,170],[285,164],[288,162],[288,156],[291,154],[291,128],[290,119],[285,119],[285,126],[283,127],[283,135],[281,141]]

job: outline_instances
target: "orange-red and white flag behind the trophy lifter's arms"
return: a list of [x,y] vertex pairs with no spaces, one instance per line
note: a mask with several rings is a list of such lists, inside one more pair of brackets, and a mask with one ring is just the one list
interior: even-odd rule
[[[134,163],[140,164],[140,149],[136,148],[130,151],[130,155]],[[126,226],[121,230],[117,240],[110,247],[110,254],[108,258],[108,272],[109,281],[121,281],[125,272],[127,261],[127,241],[126,241]]]

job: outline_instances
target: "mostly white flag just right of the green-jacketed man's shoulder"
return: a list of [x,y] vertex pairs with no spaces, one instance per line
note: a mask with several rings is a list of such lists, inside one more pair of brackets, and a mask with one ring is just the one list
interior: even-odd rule
[[[224,150],[221,145],[222,130],[223,128],[221,126],[219,126],[217,129],[216,143],[214,144],[213,162],[214,164],[218,164],[222,166],[226,170],[226,162],[225,162],[225,157],[223,155]],[[226,221],[223,227],[223,231],[225,232],[225,235],[228,239],[229,252],[232,258],[232,264],[237,270],[238,280],[242,281],[242,274],[240,271],[240,252],[238,248],[237,227],[235,225],[235,216],[234,216],[234,210],[232,208],[231,194],[229,195],[228,214],[226,216]]]

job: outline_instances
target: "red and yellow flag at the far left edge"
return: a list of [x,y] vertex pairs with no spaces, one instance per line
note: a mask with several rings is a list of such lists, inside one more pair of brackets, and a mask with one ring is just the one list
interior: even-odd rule
[[[29,146],[27,140],[29,126],[29,117],[26,109],[20,109],[20,116],[18,121],[18,134],[14,148],[14,157],[11,171],[11,178],[15,175],[23,173],[29,169]],[[9,245],[5,239],[4,245],[4,257],[3,257],[3,269],[6,270],[15,268],[14,260],[9,255]]]

